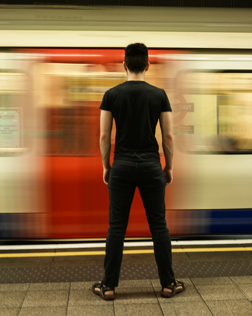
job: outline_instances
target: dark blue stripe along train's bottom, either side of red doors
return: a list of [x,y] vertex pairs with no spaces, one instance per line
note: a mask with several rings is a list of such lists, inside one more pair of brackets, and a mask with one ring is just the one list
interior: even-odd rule
[[[177,217],[183,223],[183,234],[186,235],[252,234],[252,209],[180,211],[190,214],[189,217],[186,216],[186,221],[183,220],[182,214],[182,217],[180,217],[178,213]],[[0,238],[27,238],[27,236],[24,236],[24,231],[29,225],[31,225],[29,214],[0,213]],[[28,236],[29,238],[33,237],[31,234],[28,234]]]

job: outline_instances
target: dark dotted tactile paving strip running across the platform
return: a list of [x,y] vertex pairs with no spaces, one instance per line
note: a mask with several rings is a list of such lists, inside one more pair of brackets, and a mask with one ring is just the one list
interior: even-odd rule
[[[249,262],[194,262],[174,263],[176,277],[213,277],[251,275]],[[0,274],[0,283],[25,282],[77,282],[100,280],[104,275],[101,265],[60,266],[45,268],[7,268]],[[124,264],[121,267],[121,280],[141,280],[158,278],[156,264]]]

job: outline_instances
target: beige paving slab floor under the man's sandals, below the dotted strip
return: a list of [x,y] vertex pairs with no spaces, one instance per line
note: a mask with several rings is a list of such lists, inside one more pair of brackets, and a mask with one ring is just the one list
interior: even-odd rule
[[114,301],[91,292],[93,281],[0,284],[1,316],[249,316],[252,276],[180,278],[186,291],[160,296],[158,279],[121,280]]

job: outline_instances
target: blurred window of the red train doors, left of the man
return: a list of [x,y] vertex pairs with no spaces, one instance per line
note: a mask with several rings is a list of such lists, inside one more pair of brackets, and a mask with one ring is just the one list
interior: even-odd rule
[[122,65],[40,63],[34,78],[35,106],[44,118],[39,152],[99,155],[100,103],[106,90],[127,80]]

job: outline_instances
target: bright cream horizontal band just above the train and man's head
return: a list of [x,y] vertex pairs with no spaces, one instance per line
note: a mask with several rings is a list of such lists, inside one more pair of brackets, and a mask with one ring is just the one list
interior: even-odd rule
[[252,49],[252,33],[0,30],[2,47],[126,47]]

